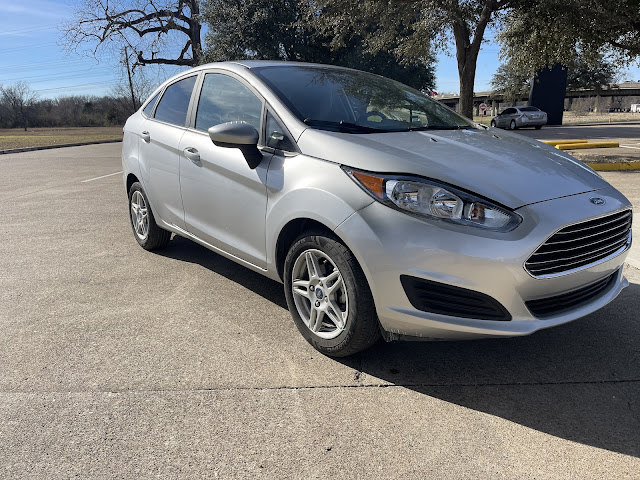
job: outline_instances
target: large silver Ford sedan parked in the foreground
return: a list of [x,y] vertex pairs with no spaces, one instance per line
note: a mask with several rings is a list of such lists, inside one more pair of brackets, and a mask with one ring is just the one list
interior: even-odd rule
[[133,233],[192,239],[284,283],[321,352],[526,335],[627,286],[631,205],[548,145],[417,90],[299,63],[203,65],[124,128]]

